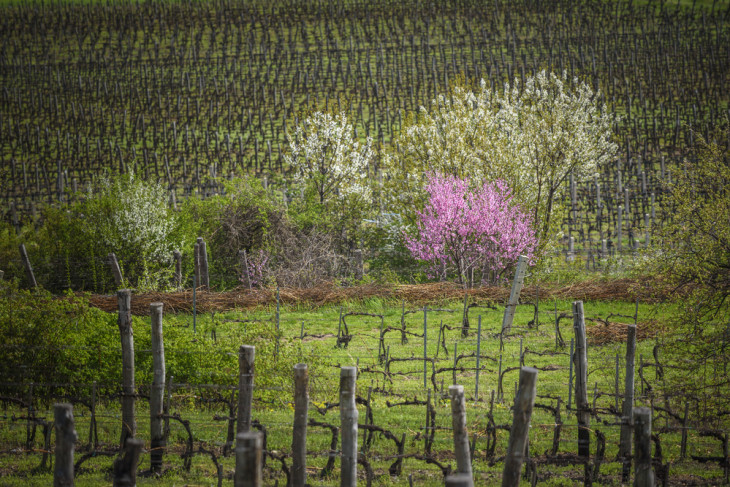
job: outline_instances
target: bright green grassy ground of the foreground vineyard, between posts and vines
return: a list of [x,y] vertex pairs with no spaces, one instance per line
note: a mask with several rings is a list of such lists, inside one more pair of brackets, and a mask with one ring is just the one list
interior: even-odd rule
[[[499,330],[502,322],[502,307],[493,310],[486,305],[492,303],[476,303],[470,310],[471,332],[462,338],[460,323],[462,316],[461,302],[434,302],[429,304],[433,311],[427,313],[426,349],[427,357],[434,359],[437,373],[433,375],[431,364],[427,367],[427,378],[424,383],[424,313],[420,307],[405,305],[407,343],[401,341],[401,318],[403,305],[381,299],[370,299],[364,302],[342,303],[341,306],[315,307],[285,306],[280,314],[280,346],[281,353],[300,353],[309,357],[311,367],[310,382],[310,419],[332,425],[339,425],[337,408],[328,409],[327,405],[338,402],[338,368],[344,365],[356,365],[359,368],[358,397],[366,402],[370,400],[372,420],[368,418],[368,408],[359,405],[360,424],[370,422],[393,433],[400,439],[403,435],[405,455],[429,456],[426,443],[429,441],[426,429],[426,402],[430,400],[433,407],[434,435],[430,446],[430,456],[444,466],[454,465],[453,440],[451,438],[451,418],[448,394],[446,389],[453,382],[465,388],[468,400],[467,422],[470,436],[474,441],[475,478],[482,485],[499,482],[502,472],[501,457],[505,454],[509,437],[508,429],[502,428],[512,422],[510,407],[514,401],[515,386],[518,377],[522,353],[524,365],[537,367],[538,399],[530,433],[530,455],[537,462],[537,475],[541,485],[579,485],[582,483],[583,467],[570,464],[577,453],[575,396],[571,398],[571,408],[567,406],[569,378],[569,342],[573,337],[572,318],[560,320],[560,335],[566,344],[556,346],[555,309],[558,315],[569,313],[571,303],[568,301],[547,301],[540,303],[539,326],[529,322],[534,320],[534,308],[529,305],[519,306],[512,332],[504,337],[503,349],[500,349]],[[620,330],[624,323],[633,322],[631,317],[635,311],[633,303],[626,302],[586,302],[585,316],[588,328],[588,384],[589,402],[594,409],[591,418],[591,451],[595,452],[597,432],[605,435],[605,459],[601,466],[597,481],[606,485],[619,484],[620,463],[616,462],[619,437],[620,418],[616,415],[615,397],[616,357],[619,359],[620,394],[623,393],[623,362],[625,343],[622,342]],[[437,311],[450,310],[450,311]],[[340,313],[345,315],[345,322],[352,335],[347,348],[336,347]],[[393,327],[393,331],[385,333],[383,345],[388,351],[391,362],[386,367],[378,359],[380,348],[381,322],[379,317],[347,316],[347,313],[364,312],[383,316],[385,329]],[[652,403],[666,405],[664,397],[676,410],[680,409],[679,397],[672,396],[672,391],[662,388],[662,381],[657,380],[653,349],[661,343],[663,320],[671,307],[639,305],[638,330],[641,338],[637,348],[636,405]],[[623,315],[623,316],[617,316]],[[240,334],[247,322],[268,323],[266,326],[276,327],[276,310],[274,307],[260,308],[250,311],[234,311],[205,314],[196,317],[196,340],[203,342],[210,354],[227,354],[230,356],[232,379],[235,379],[235,338],[228,337]],[[477,343],[477,323],[481,316],[481,340]],[[601,323],[596,319],[608,321]],[[441,324],[452,329],[445,329],[445,342],[438,345]],[[192,316],[185,314],[168,315],[164,326],[184,328],[185,333],[193,333]],[[250,325],[248,325],[250,326]],[[149,320],[135,318],[135,335],[149,333]],[[343,327],[344,329],[344,327]],[[396,330],[398,329],[398,330]],[[215,338],[214,338],[215,335]],[[228,344],[223,346],[222,344]],[[293,347],[292,347],[293,345]],[[479,389],[476,390],[477,370],[475,352],[480,347]],[[440,371],[452,368],[454,350],[461,358],[457,370]],[[139,354],[144,354],[142,350]],[[183,350],[168,349],[168,361],[174,361],[174,355],[184,353]],[[661,358],[661,355],[659,356]],[[261,356],[258,360],[275,360]],[[412,359],[398,361],[398,359]],[[641,362],[640,362],[641,361]],[[644,367],[638,372],[638,364]],[[386,372],[386,370],[388,372]],[[498,374],[502,372],[502,388],[500,389]],[[139,372],[138,372],[139,373]],[[641,378],[643,380],[641,380]],[[699,377],[699,374],[698,374]],[[234,467],[232,456],[222,457],[222,449],[226,442],[226,421],[214,420],[216,416],[226,416],[227,407],[222,403],[211,402],[212,397],[220,393],[222,399],[230,397],[231,390],[218,384],[211,388],[210,377],[199,377],[198,384],[175,384],[172,393],[170,411],[179,413],[182,419],[190,421],[193,434],[194,450],[202,447],[211,451],[220,462],[224,477],[230,477]],[[254,419],[264,425],[267,432],[267,450],[273,455],[284,458],[290,465],[286,455],[291,450],[291,421],[293,418],[291,375],[282,374],[279,385],[262,387],[255,393]],[[434,387],[435,383],[435,387]],[[208,384],[208,385],[200,385]],[[40,387],[40,386],[38,386]],[[39,389],[37,389],[38,391]],[[215,392],[213,392],[215,391]],[[39,392],[36,392],[37,394]],[[492,401],[492,394],[495,399]],[[560,398],[560,399],[559,399]],[[556,424],[554,411],[560,401],[560,419],[564,422],[559,441],[557,455],[553,455],[553,437]],[[406,404],[411,403],[411,404]],[[148,409],[144,399],[139,401],[137,421],[139,437],[145,439],[149,446]],[[619,403],[620,408],[620,403]],[[41,463],[42,435],[33,444],[33,451],[27,450],[26,423],[18,419],[22,410],[6,406],[3,417],[2,446],[0,456],[0,472],[3,485],[46,485],[52,475],[48,469],[39,469]],[[52,417],[52,411],[41,411],[46,418]],[[83,455],[88,446],[89,411],[80,404],[75,405],[79,442],[76,458]],[[97,411],[98,435],[101,442],[99,451],[114,450],[120,434],[119,408],[116,401],[100,404]],[[722,477],[722,469],[716,464],[701,465],[690,460],[691,455],[721,456],[721,445],[712,438],[700,437],[695,428],[689,430],[690,442],[687,458],[680,460],[681,432],[677,421],[666,414],[655,412],[654,432],[659,438],[663,462],[671,464],[670,479],[689,479],[693,481],[714,483]],[[490,428],[489,425],[492,425]],[[494,430],[493,427],[497,426]],[[493,432],[493,433],[492,433]],[[492,446],[490,435],[496,435],[496,443]],[[192,459],[190,472],[185,472],[180,455],[185,450],[187,434],[179,422],[171,421],[170,451],[165,456],[166,473],[161,479],[144,477],[139,479],[140,485],[215,485],[216,469],[209,454],[196,454]],[[360,446],[364,442],[364,434],[360,431]],[[324,478],[318,474],[325,468],[329,457],[332,435],[329,429],[310,426],[307,448],[309,452],[309,478],[312,485],[339,485],[339,461],[334,470]],[[492,449],[493,448],[493,449]],[[408,485],[408,477],[412,476],[414,485],[443,485],[442,472],[438,467],[427,464],[423,459],[405,458],[399,475],[389,475],[389,467],[395,461],[398,450],[396,443],[381,434],[374,434],[366,450],[366,458],[373,471],[373,485]],[[78,475],[77,485],[99,485],[109,481],[112,458],[97,455],[83,463]],[[567,465],[565,463],[567,462]],[[561,465],[562,464],[562,465]],[[280,462],[267,460],[266,485],[274,485],[277,481],[285,482]],[[149,456],[143,454],[140,471],[149,468]],[[362,471],[362,467],[360,467]],[[364,477],[363,477],[364,479]],[[714,479],[714,480],[713,480]],[[673,482],[671,482],[673,483]],[[671,484],[670,483],[670,484]]]

